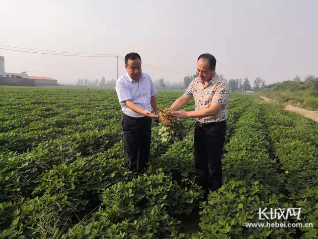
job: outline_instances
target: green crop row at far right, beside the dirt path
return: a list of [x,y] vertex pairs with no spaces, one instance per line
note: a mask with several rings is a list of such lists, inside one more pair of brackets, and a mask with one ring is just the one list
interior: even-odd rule
[[297,114],[264,105],[273,152],[286,171],[289,203],[302,208],[301,220],[314,228],[302,228],[301,238],[318,236],[317,123]]

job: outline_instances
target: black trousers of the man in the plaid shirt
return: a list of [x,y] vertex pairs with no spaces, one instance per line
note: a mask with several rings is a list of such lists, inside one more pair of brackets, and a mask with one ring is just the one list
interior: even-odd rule
[[206,194],[222,186],[222,150],[225,141],[226,121],[208,126],[195,123],[194,162],[198,174],[198,184]]

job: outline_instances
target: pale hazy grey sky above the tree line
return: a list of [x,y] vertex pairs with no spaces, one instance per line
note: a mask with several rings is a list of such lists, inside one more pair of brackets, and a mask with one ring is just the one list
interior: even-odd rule
[[[217,73],[266,84],[318,75],[318,0],[0,0],[0,45],[125,56],[138,52],[153,80],[183,81],[211,53]],[[3,47],[0,47],[3,48]],[[76,83],[116,79],[116,58],[0,49],[6,72]],[[119,76],[125,73],[118,60]],[[252,85],[252,84],[251,84]]]

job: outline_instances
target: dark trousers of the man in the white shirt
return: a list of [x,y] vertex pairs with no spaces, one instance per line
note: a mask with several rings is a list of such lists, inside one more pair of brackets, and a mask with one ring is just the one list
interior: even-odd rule
[[125,165],[129,170],[140,172],[149,162],[151,121],[150,117],[135,118],[123,114]]

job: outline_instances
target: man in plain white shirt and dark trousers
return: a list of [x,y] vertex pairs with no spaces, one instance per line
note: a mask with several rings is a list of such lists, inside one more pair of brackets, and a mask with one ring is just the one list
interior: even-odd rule
[[[149,162],[152,118],[158,120],[157,91],[150,76],[142,72],[137,53],[125,56],[127,73],[116,82],[116,92],[123,112],[123,141],[126,167],[140,172]],[[152,114],[151,111],[155,111]]]

